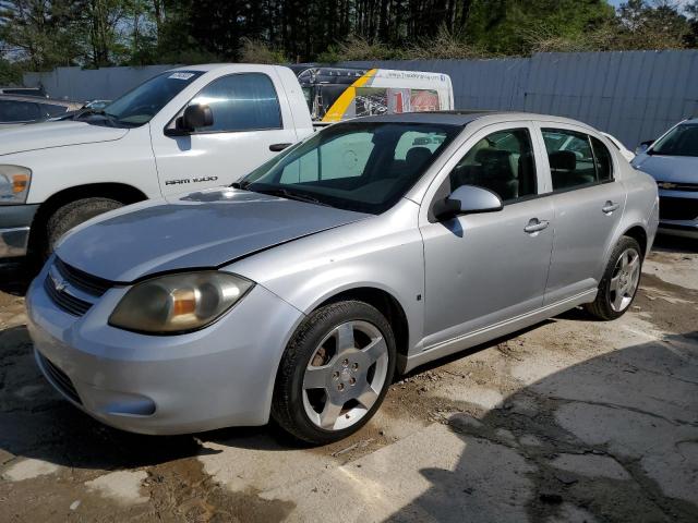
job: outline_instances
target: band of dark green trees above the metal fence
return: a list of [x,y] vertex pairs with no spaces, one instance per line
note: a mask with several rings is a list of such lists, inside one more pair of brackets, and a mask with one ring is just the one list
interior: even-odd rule
[[697,16],[698,0],[0,0],[0,74],[686,48]]

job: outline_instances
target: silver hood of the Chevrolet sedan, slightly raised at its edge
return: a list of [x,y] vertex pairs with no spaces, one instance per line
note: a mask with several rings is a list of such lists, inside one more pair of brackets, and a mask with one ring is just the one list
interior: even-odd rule
[[369,216],[246,191],[212,190],[97,217],[64,236],[56,254],[89,275],[125,283],[156,272],[219,267]]

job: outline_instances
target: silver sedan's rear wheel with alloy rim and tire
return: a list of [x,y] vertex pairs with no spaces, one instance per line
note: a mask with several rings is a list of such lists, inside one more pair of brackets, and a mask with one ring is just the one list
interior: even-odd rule
[[640,283],[642,251],[637,241],[623,236],[611,254],[599,293],[587,311],[599,319],[615,319],[630,307]]

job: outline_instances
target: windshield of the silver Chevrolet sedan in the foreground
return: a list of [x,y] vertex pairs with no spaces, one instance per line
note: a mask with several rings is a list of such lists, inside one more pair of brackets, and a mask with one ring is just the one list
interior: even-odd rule
[[462,127],[420,123],[332,125],[260,167],[241,188],[381,214],[400,199]]

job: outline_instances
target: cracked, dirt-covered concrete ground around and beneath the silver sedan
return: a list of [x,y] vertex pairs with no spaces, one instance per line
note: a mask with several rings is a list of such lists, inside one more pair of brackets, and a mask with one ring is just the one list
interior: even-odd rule
[[0,268],[0,521],[698,521],[698,242],[662,240],[623,318],[571,311],[396,381],[359,434],[156,438],[39,375]]

